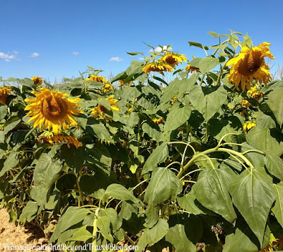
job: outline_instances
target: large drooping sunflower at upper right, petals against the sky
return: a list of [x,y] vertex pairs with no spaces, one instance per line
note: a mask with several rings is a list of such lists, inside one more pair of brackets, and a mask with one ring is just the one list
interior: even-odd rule
[[271,80],[269,67],[265,64],[264,57],[275,59],[271,54],[270,43],[263,42],[258,47],[243,47],[238,57],[230,59],[227,65],[232,65],[228,79],[238,89],[241,82],[242,91],[250,88],[253,80],[267,84]]

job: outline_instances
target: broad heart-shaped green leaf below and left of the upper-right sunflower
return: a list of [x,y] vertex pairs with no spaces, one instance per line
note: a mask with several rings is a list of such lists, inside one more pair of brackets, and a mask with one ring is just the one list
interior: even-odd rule
[[194,107],[202,113],[204,119],[208,121],[212,116],[219,111],[221,105],[226,103],[227,92],[223,86],[219,86],[216,90],[212,90],[211,93],[204,95],[204,91],[201,86],[195,86],[190,91],[190,101]]

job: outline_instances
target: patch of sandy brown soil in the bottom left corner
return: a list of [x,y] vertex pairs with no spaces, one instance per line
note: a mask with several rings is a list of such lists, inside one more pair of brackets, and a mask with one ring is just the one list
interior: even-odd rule
[[[27,225],[16,227],[14,223],[9,222],[6,209],[0,209],[0,251],[25,251],[24,246],[25,248],[46,246],[48,241],[42,233],[41,230],[27,227]],[[13,247],[8,248],[8,246]],[[21,250],[21,248],[23,249]]]

